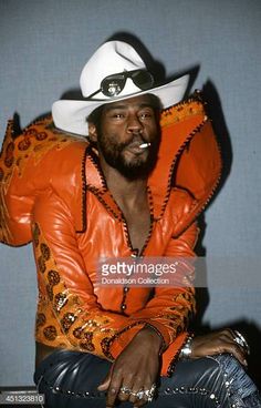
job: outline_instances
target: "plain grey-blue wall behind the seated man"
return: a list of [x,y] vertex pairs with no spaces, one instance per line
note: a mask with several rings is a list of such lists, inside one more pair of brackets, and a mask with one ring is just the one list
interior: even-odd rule
[[[167,75],[199,68],[192,88],[203,88],[210,101],[228,173],[205,217],[202,245],[215,262],[203,323],[237,325],[258,344],[260,0],[0,0],[0,139],[14,112],[24,126],[77,88],[88,57],[115,32],[138,37]],[[0,386],[29,385],[36,297],[31,247],[1,245],[0,258]]]

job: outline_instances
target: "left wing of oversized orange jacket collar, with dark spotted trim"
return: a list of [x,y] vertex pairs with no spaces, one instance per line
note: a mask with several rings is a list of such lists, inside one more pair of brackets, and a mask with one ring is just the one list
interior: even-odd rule
[[13,246],[31,242],[32,207],[49,186],[75,208],[75,231],[83,230],[81,171],[86,146],[84,137],[53,129],[51,116],[19,135],[14,135],[13,121],[8,122],[0,153],[0,242]]

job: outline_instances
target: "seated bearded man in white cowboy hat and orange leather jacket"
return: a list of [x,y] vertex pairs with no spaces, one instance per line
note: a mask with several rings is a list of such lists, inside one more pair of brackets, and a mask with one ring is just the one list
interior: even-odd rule
[[[1,241],[34,245],[46,407],[259,404],[241,334],[188,334],[195,220],[221,163],[201,101],[179,103],[187,82],[155,86],[133,47],[109,41],[83,69],[84,100],[54,103],[55,126],[48,118],[14,142],[9,126]],[[135,257],[181,258],[176,285],[98,284],[98,262]]]

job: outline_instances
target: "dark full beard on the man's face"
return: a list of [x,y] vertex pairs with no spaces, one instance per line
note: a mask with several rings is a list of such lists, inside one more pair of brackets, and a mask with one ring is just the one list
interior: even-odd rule
[[133,137],[125,143],[117,143],[107,140],[103,134],[98,137],[98,149],[103,154],[106,163],[113,169],[116,169],[125,178],[129,181],[146,178],[156,165],[160,136],[154,137],[146,157],[143,154],[134,155],[133,160],[127,160],[124,155],[124,150],[133,142],[140,141],[146,143],[142,135],[133,134]]

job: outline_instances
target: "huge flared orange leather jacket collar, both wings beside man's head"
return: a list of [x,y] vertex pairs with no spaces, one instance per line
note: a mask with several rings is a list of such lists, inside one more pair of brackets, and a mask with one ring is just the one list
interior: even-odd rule
[[[188,191],[194,205],[176,226],[178,236],[213,195],[221,157],[198,94],[165,110],[160,125],[159,159],[148,178],[150,213],[154,220],[160,220],[171,188]],[[53,128],[51,116],[32,123],[14,137],[13,123],[9,122],[0,155],[0,239],[12,245],[31,241],[33,203],[38,192],[50,187],[70,208],[79,233],[86,230],[87,191],[96,194],[115,217],[122,217],[85,137]]]

